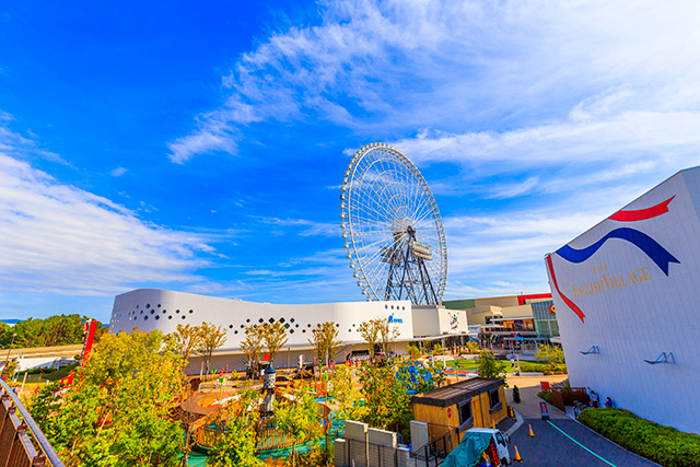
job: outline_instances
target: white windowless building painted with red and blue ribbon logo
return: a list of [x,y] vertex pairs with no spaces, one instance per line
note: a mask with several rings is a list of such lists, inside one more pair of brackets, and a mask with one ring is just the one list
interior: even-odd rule
[[693,433],[700,433],[699,212],[696,167],[545,259],[571,385]]

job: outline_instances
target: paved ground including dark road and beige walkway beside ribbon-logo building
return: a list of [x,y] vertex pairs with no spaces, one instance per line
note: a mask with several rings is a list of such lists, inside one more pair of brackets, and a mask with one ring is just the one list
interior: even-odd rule
[[[515,446],[523,466],[593,466],[646,467],[657,464],[639,457],[587,429],[555,406],[547,404],[550,421],[541,419],[537,397],[541,381],[559,383],[567,376],[509,376],[505,398],[522,418],[522,424],[511,433],[511,456]],[[513,386],[521,392],[521,404],[513,402]],[[529,436],[532,427],[534,437]]]

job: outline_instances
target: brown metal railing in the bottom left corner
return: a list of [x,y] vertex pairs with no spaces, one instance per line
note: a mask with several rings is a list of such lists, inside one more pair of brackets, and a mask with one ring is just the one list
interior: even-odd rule
[[0,381],[0,467],[65,467],[16,394]]

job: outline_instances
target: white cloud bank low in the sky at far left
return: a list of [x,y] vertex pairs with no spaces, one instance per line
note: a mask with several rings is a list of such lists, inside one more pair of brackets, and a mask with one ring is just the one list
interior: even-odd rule
[[[0,126],[0,144],[23,143]],[[135,284],[194,282],[207,238],[141,221],[0,152],[0,289],[103,295]]]

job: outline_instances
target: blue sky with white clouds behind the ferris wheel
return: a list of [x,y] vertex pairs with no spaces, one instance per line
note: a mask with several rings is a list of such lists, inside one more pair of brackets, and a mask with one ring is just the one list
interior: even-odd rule
[[374,141],[435,195],[445,299],[548,291],[546,253],[700,163],[699,9],[5,4],[0,318],[362,300],[338,195]]

